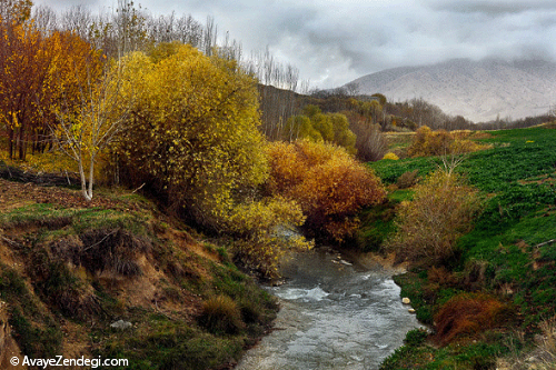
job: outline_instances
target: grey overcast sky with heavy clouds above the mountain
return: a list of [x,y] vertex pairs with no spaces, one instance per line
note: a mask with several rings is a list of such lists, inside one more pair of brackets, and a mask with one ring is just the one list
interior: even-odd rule
[[[117,0],[34,0],[62,10]],[[555,0],[135,0],[152,14],[215,19],[218,32],[270,52],[312,87],[384,69],[487,57],[556,59]]]

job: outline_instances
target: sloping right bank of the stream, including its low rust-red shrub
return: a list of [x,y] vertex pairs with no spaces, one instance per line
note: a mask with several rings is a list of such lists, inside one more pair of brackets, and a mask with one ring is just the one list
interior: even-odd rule
[[[456,171],[483,194],[481,212],[451,259],[414,261],[395,278],[433,333],[409,332],[381,369],[554,369],[556,130],[548,127],[471,133],[490,148],[467,154]],[[408,141],[390,139],[397,148]],[[416,189],[398,189],[400,179],[423,181],[438,166],[438,157],[371,164],[395,210]],[[389,209],[378,212],[366,216],[368,240],[395,230]]]

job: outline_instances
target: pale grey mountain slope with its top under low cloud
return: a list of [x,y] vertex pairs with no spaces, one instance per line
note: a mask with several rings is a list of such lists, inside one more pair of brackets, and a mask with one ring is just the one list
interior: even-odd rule
[[474,122],[539,116],[556,103],[556,63],[543,60],[453,59],[387,69],[350,83],[359,93],[380,92],[389,101],[423,98]]

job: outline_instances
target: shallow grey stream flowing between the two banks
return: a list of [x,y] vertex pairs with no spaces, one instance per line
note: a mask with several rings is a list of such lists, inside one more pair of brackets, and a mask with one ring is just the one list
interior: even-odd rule
[[280,299],[274,330],[237,370],[374,370],[420,327],[401,303],[391,271],[348,262],[330,249],[296,256],[285,284],[267,288]]

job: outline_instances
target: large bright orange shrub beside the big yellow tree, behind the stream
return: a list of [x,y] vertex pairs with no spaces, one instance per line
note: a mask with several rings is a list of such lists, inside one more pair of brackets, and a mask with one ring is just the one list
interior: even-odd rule
[[267,189],[296,200],[310,234],[337,242],[357,229],[357,212],[385,197],[380,180],[344,149],[309,141],[275,142],[268,147]]

